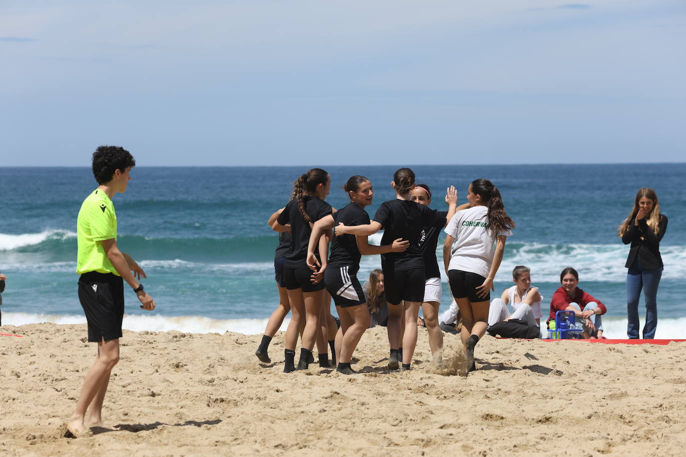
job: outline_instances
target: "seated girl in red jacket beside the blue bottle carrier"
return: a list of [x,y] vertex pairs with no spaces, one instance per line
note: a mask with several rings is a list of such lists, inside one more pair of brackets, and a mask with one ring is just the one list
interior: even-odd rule
[[576,323],[583,325],[583,338],[607,339],[602,336],[602,314],[607,312],[607,308],[598,299],[585,293],[577,287],[579,284],[579,273],[575,269],[568,267],[560,273],[560,283],[550,300],[550,315],[547,322],[555,319],[557,311],[573,311],[576,316]]

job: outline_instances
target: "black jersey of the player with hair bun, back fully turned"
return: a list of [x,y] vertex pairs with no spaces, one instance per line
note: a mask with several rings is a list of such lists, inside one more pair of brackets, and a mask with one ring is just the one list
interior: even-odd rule
[[[445,224],[445,217],[442,219]],[[383,227],[381,245],[393,243],[397,238],[410,241],[410,247],[403,252],[381,254],[384,268],[402,271],[424,267],[426,235],[422,232],[424,227],[438,224],[440,217],[436,210],[411,200],[394,199],[381,203],[374,220]]]

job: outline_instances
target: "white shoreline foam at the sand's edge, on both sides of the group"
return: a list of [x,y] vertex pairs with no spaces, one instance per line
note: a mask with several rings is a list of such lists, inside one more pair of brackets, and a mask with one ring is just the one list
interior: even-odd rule
[[[25,325],[29,323],[52,322],[58,324],[86,323],[82,315],[59,314],[29,314],[25,312],[3,312],[3,324]],[[169,332],[178,330],[189,333],[224,333],[238,332],[246,335],[264,332],[268,319],[211,319],[202,316],[142,316],[138,314],[124,315],[122,327],[126,330],[141,332]],[[285,331],[290,319],[286,318],[279,330]],[[604,335],[608,338],[626,338],[626,319],[622,317],[606,317],[603,319]],[[641,319],[641,328],[643,320]],[[659,319],[655,338],[680,339],[686,338],[686,317],[676,319]]]

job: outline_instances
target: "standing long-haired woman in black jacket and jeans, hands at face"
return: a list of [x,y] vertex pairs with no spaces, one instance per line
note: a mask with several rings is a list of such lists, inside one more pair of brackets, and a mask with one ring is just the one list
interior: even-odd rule
[[629,217],[619,225],[619,238],[625,245],[631,243],[625,267],[626,310],[629,338],[639,337],[639,297],[641,288],[646,301],[646,325],[643,338],[655,337],[657,328],[657,286],[662,276],[660,240],[667,230],[667,216],[660,214],[657,194],[651,188],[639,189]]

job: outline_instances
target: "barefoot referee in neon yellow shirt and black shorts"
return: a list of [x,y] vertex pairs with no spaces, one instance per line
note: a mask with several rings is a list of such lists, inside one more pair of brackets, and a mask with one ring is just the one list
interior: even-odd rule
[[[123,282],[131,286],[141,308],[154,310],[155,301],[139,282],[145,271],[117,247],[117,214],[112,199],[126,192],[136,161],[117,146],[100,146],[93,153],[93,175],[99,186],[84,200],[77,225],[79,300],[88,321],[88,341],[97,343],[95,364],[86,374],[81,395],[67,429],[78,436],[85,427],[102,426],[102,402],[110,373],[119,362],[119,338],[124,314]],[[84,417],[88,410],[88,421]]]

